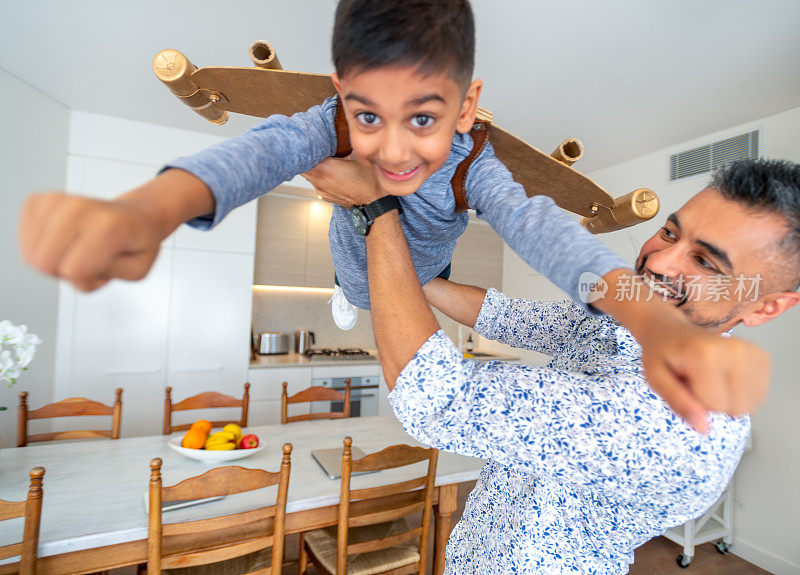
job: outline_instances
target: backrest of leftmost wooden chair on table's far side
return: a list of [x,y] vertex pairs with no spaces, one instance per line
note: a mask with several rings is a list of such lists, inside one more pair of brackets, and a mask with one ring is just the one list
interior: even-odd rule
[[[28,435],[28,421],[31,419],[50,419],[53,417],[77,417],[83,415],[110,415],[111,429],[87,431],[54,431]],[[122,425],[122,389],[117,388],[114,405],[105,405],[84,397],[70,397],[56,403],[49,403],[39,409],[28,410],[28,392],[19,394],[17,410],[17,447],[25,447],[37,441],[58,441],[61,439],[93,439],[110,437],[119,439]]]

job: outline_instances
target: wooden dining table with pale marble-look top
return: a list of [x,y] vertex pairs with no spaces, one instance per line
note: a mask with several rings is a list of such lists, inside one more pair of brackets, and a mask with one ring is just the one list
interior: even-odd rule
[[[364,453],[397,443],[420,445],[392,416],[248,427],[246,432],[258,435],[265,447],[232,465],[276,471],[280,467],[282,445],[291,443],[294,447],[286,506],[287,534],[336,524],[339,480],[331,480],[323,473],[311,457],[313,450],[341,447],[342,438],[348,435]],[[145,494],[150,460],[154,457],[163,460],[164,485],[225,465],[180,455],[167,445],[170,437],[156,435],[0,449],[0,499],[25,499],[30,469],[42,466],[46,470],[37,573],[95,573],[146,562]],[[477,479],[482,466],[479,459],[450,453],[439,455],[433,550],[437,574],[444,571],[458,484]],[[403,481],[424,472],[423,468],[411,466],[354,476],[352,487],[362,489]],[[239,513],[272,505],[275,497],[275,488],[230,495],[219,501],[166,511],[164,522]],[[0,546],[21,538],[21,519],[0,522]],[[12,565],[0,563],[0,575],[14,572]]]

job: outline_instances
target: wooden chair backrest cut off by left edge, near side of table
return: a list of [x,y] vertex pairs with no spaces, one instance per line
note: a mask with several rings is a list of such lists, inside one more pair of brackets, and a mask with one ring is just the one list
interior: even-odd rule
[[0,561],[20,556],[20,575],[36,572],[36,556],[39,547],[39,525],[42,517],[42,477],[44,467],[31,469],[31,483],[25,501],[0,501],[0,521],[25,518],[22,542],[0,547]]

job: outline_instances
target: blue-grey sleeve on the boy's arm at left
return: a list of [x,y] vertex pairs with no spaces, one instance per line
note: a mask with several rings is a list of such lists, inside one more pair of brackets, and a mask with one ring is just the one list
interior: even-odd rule
[[241,136],[167,164],[163,170],[180,168],[203,180],[216,200],[213,214],[188,224],[211,229],[234,208],[332,156],[336,102],[329,98],[293,116],[270,116]]

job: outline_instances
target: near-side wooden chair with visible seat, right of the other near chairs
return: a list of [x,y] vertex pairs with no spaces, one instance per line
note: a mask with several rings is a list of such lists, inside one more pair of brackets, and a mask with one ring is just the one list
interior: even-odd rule
[[[425,573],[438,452],[393,445],[351,461],[351,445],[352,439],[345,437],[338,525],[301,534],[299,573],[306,572],[309,559],[328,575]],[[422,477],[350,491],[353,472],[393,469],[426,460],[428,472]],[[405,517],[419,511],[422,524],[410,528]]]

